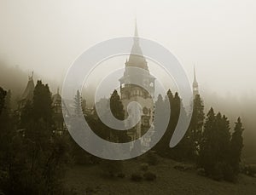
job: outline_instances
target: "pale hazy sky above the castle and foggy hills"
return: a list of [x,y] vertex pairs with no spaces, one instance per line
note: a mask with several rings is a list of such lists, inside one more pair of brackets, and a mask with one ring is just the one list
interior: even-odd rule
[[[0,60],[61,82],[79,54],[139,35],[170,49],[201,89],[255,93],[256,1],[0,0]],[[120,66],[125,66],[120,64]]]

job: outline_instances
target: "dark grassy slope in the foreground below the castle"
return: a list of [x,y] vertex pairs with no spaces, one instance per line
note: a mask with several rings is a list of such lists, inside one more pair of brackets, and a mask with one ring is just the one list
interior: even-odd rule
[[125,161],[125,178],[102,175],[99,165],[76,165],[67,172],[67,185],[78,194],[256,194],[256,178],[239,175],[236,184],[213,181],[197,175],[195,169],[174,169],[177,163],[165,158],[148,168],[157,175],[155,181],[131,181],[131,173],[140,171],[140,164],[136,159]]

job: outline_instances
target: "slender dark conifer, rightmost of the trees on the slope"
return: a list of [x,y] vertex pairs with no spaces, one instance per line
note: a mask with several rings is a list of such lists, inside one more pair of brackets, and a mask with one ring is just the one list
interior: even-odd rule
[[230,164],[235,173],[239,172],[239,163],[241,162],[241,149],[243,147],[241,118],[237,118],[236,126],[230,141]]

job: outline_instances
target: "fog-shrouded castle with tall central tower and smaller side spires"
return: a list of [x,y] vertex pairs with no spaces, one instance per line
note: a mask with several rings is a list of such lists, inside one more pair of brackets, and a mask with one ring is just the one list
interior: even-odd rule
[[[143,72],[132,72],[131,68],[138,68],[143,70]],[[133,84],[132,81],[136,80],[137,84]],[[125,72],[123,77],[119,78],[120,83],[120,98],[125,108],[125,118],[128,116],[129,109],[127,111],[127,106],[135,101],[137,102],[140,107],[138,109],[141,110],[141,120],[131,129],[127,130],[127,135],[130,137],[130,141],[135,141],[140,139],[150,128],[151,124],[154,122],[154,81],[155,77],[152,76],[148,69],[148,62],[143,56],[143,51],[140,47],[138,32],[137,32],[137,24],[135,25],[135,32],[133,38],[133,45],[131,47],[131,54],[129,58],[125,62]],[[193,95],[199,94],[198,90],[198,83],[196,80],[195,75],[195,66],[194,66],[194,82],[193,82]],[[33,90],[35,88],[33,82],[33,75],[28,78],[28,83],[26,85],[26,89],[21,95],[19,101],[18,110],[21,109],[26,105],[26,101],[32,101]],[[148,89],[148,91],[146,90]],[[61,95],[59,94],[59,90],[55,95],[52,95],[52,106],[54,111],[54,120],[56,130],[58,132],[63,132],[66,128],[66,125],[63,120],[62,116],[62,105],[61,102]],[[86,113],[85,113],[86,115]],[[134,117],[134,116],[133,116]],[[131,118],[132,120],[132,118]],[[128,121],[131,123],[131,121]],[[142,140],[142,146],[147,148],[150,143],[150,137],[144,137]],[[132,146],[131,146],[132,147]]]

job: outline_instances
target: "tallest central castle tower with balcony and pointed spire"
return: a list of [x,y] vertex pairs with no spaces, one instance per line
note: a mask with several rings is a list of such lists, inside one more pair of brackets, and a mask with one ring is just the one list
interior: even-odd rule
[[[141,121],[137,123],[137,125],[134,128],[128,130],[127,134],[128,136],[130,136],[131,141],[137,140],[142,135],[144,135],[148,131],[151,123],[153,122],[153,99],[155,80],[155,78],[150,74],[148,70],[148,62],[144,58],[143,51],[140,47],[139,37],[137,33],[137,24],[135,25],[133,39],[134,41],[131,48],[131,54],[129,56],[129,59],[125,62],[124,76],[119,79],[121,100],[125,107],[125,117],[127,117],[129,112],[129,110],[128,112],[126,111],[126,108],[132,101],[136,101],[141,105],[140,110],[141,113],[143,113]],[[131,70],[131,68],[129,69],[129,67],[136,67],[138,69],[137,71],[134,71],[134,69]],[[139,71],[140,69],[142,70],[142,72]],[[131,84],[130,81],[136,81],[137,83],[140,83],[140,85],[146,87],[148,91],[136,84]],[[143,146],[149,146],[149,142],[149,140],[143,141]]]

